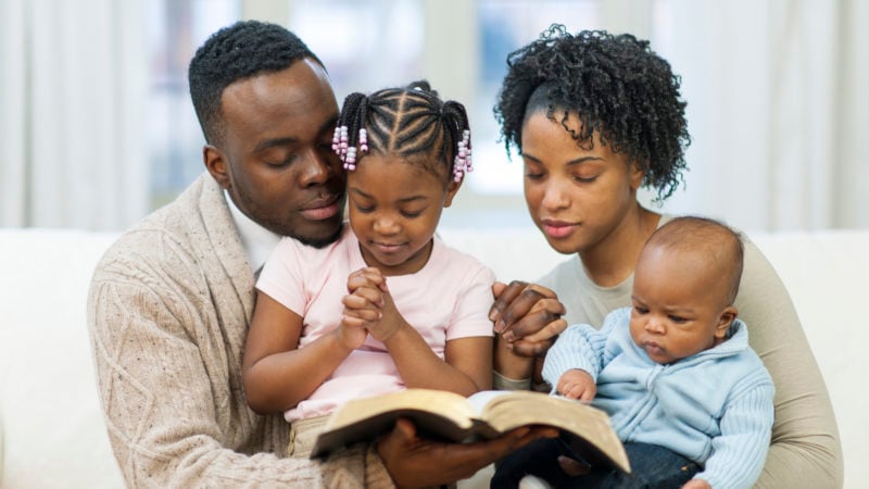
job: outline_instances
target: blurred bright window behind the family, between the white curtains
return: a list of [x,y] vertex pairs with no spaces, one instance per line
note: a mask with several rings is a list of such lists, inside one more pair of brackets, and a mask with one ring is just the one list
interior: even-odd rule
[[[475,60],[467,67],[471,76],[458,78],[473,85],[458,88],[465,93],[462,98],[445,93],[431,79],[444,97],[465,103],[474,130],[475,172],[466,178],[453,208],[444,213],[443,223],[509,226],[530,222],[521,198],[521,163],[515,155],[507,162],[492,116],[506,55],[553,22],[570,30],[593,27],[601,16],[597,1],[272,1],[281,3],[276,11],[288,12],[289,17],[272,21],[287,25],[324,61],[339,103],[351,91],[410,83],[424,77],[426,70],[449,72],[451,57]],[[187,89],[187,65],[210,34],[241,17],[244,2],[162,0],[149,5],[153,79],[148,147],[151,205],[156,208],[174,199],[203,171],[202,135]],[[466,10],[462,15],[441,12],[450,5]],[[443,42],[443,36],[456,36],[463,43],[452,47]],[[446,60],[446,64],[439,60]],[[448,75],[436,74],[446,79],[453,74]]]

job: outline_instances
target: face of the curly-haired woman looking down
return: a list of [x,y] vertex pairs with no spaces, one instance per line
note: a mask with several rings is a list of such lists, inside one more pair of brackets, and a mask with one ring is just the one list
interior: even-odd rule
[[[579,130],[575,114],[567,126]],[[522,125],[525,200],[531,220],[561,253],[601,244],[638,205],[643,172],[601,145],[599,136],[594,133],[592,150],[579,148],[561,122],[546,118],[544,111],[527,116]]]

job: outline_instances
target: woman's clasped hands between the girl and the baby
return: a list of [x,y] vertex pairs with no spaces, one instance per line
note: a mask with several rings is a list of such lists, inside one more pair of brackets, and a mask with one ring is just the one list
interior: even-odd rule
[[489,311],[495,333],[507,341],[507,348],[522,356],[544,354],[567,322],[564,304],[552,290],[524,281],[492,285],[495,302]]

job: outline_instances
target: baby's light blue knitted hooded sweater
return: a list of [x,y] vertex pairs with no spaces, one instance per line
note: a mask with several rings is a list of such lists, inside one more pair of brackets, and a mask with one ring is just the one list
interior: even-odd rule
[[[720,344],[676,363],[648,358],[630,336],[631,308],[600,330],[572,325],[546,353],[543,378],[557,386],[571,368],[597,383],[592,404],[622,441],[665,447],[704,468],[713,488],[750,488],[760,475],[772,429],[774,388],[736,319]],[[554,389],[553,389],[554,390]]]

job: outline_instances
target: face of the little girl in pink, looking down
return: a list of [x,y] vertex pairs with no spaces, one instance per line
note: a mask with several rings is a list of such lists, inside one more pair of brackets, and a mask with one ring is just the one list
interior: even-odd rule
[[350,226],[362,256],[385,275],[419,272],[458,184],[401,158],[371,153],[348,172]]

